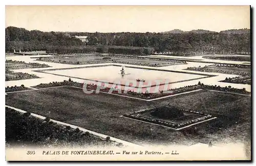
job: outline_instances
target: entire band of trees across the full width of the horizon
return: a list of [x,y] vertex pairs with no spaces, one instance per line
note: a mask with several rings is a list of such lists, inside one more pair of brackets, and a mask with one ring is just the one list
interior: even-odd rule
[[[88,36],[88,42],[83,43],[74,36]],[[17,27],[6,28],[6,51],[21,49],[32,50],[62,50],[83,51],[93,46],[97,51],[115,53],[141,53],[146,47],[156,52],[169,54],[206,54],[206,53],[250,53],[250,30],[228,30],[217,32],[197,33],[78,33],[78,32],[40,32],[27,31]],[[99,48],[97,46],[100,46]],[[110,48],[120,46],[117,48]],[[122,48],[123,47],[123,48]],[[127,49],[124,47],[130,47]],[[132,47],[135,47],[133,49]],[[91,49],[91,48],[90,48]],[[95,49],[95,48],[94,48]],[[88,50],[87,50],[88,51]],[[143,51],[146,51],[143,49]],[[145,53],[145,52],[144,52]],[[145,53],[147,54],[147,53]]]

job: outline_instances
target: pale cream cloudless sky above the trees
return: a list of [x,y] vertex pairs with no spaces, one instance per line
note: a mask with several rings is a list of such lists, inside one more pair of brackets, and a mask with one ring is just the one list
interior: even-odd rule
[[249,6],[6,6],[6,27],[44,32],[250,29]]

